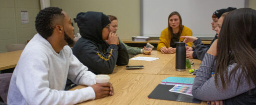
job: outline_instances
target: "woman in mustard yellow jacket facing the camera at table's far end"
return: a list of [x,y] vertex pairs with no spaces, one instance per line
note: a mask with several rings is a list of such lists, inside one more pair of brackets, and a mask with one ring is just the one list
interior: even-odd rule
[[[161,53],[175,53],[176,52],[176,41],[183,41],[184,38],[180,36],[192,36],[192,31],[182,25],[181,16],[178,12],[173,11],[168,16],[168,27],[163,29],[161,36],[159,37],[159,42],[157,45],[157,51]],[[192,43],[187,43],[187,46],[192,46]]]

